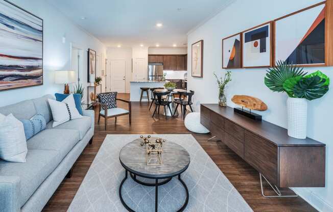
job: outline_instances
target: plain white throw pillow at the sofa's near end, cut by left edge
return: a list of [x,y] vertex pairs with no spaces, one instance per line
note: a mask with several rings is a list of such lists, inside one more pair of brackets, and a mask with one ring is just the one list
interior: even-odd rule
[[27,162],[28,153],[25,129],[13,114],[0,114],[0,158],[9,162]]

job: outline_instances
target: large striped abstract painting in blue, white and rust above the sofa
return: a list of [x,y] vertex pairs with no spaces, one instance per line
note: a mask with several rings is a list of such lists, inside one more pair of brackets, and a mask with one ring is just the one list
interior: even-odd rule
[[43,19],[0,0],[0,91],[43,85]]

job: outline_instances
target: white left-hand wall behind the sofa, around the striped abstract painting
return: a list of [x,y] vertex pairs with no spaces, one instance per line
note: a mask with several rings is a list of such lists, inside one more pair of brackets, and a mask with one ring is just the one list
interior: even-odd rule
[[[21,88],[0,92],[0,107],[3,105],[15,103],[25,99],[40,97],[44,94],[54,94],[63,92],[63,85],[54,84],[55,70],[69,70],[71,63],[71,46],[75,43],[84,49],[84,67],[87,70],[87,53],[88,48],[94,49],[98,54],[105,58],[105,46],[93,36],[85,33],[78,26],[74,25],[65,18],[58,10],[44,2],[43,0],[12,0],[12,3],[28,10],[44,20],[44,42],[43,42],[43,85],[30,88]],[[62,43],[62,37],[66,37],[66,42]],[[87,74],[81,75],[81,82],[87,82]],[[86,93],[84,97],[86,98]]]

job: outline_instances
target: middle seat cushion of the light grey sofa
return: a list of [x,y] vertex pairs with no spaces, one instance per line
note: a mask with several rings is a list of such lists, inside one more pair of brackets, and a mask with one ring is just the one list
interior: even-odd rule
[[45,129],[27,141],[31,149],[57,150],[62,160],[79,142],[80,134],[73,129]]

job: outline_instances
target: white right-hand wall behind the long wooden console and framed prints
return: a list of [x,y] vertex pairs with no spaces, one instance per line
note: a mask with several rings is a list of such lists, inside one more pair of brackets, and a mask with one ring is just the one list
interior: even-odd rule
[[[253,4],[253,1],[238,0],[217,16],[190,32],[188,34],[188,46],[200,39],[204,40],[203,78],[192,77],[191,73],[188,73],[188,89],[196,92],[194,95],[196,109],[199,110],[200,103],[218,102],[218,87],[213,72],[215,71],[218,75],[224,75],[225,73],[225,70],[221,69],[221,41],[223,38],[321,1],[257,0]],[[191,70],[191,48],[188,48],[187,51],[188,70]],[[321,70],[333,79],[332,67],[305,68],[305,70],[308,72]],[[230,107],[235,106],[230,100],[235,94],[258,97],[266,102],[269,108],[268,111],[260,113],[263,118],[286,128],[287,94],[270,91],[264,84],[265,74],[265,68],[232,70],[232,82],[227,89],[227,103]],[[332,89],[331,86],[330,89]],[[333,211],[332,105],[332,91],[329,91],[320,99],[308,102],[307,136],[326,144],[326,187],[297,189],[299,195],[320,211]]]

